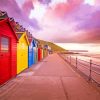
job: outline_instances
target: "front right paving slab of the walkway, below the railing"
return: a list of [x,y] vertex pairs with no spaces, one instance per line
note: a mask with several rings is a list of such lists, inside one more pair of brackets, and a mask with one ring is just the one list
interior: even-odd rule
[[81,78],[63,77],[68,100],[100,100],[100,93]]

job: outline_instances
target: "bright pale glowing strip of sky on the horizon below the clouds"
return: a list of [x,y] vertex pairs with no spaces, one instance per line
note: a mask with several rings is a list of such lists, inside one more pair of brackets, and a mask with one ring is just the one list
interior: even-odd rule
[[88,53],[100,54],[100,44],[56,43],[56,45],[66,50],[87,50]]

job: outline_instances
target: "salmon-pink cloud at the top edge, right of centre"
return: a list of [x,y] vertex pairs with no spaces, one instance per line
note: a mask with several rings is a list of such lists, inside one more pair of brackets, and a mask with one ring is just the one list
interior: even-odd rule
[[84,0],[68,0],[66,3],[59,3],[52,10],[53,14],[58,17],[64,17],[66,14],[75,10],[83,3]]

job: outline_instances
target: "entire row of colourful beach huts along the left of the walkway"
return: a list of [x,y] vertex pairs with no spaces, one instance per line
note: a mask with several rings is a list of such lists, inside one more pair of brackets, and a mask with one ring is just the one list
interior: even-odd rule
[[[50,48],[50,47],[49,47]],[[0,11],[0,85],[45,58],[50,50]]]

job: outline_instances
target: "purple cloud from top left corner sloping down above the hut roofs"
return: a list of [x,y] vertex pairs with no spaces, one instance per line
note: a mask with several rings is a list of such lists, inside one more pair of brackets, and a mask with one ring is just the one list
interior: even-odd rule
[[[14,17],[14,19],[19,22],[24,27],[33,27],[34,29],[40,29],[36,19],[30,20],[26,13],[23,12],[15,0],[1,0],[0,10],[6,11],[9,17]],[[30,30],[29,30],[30,31]]]

